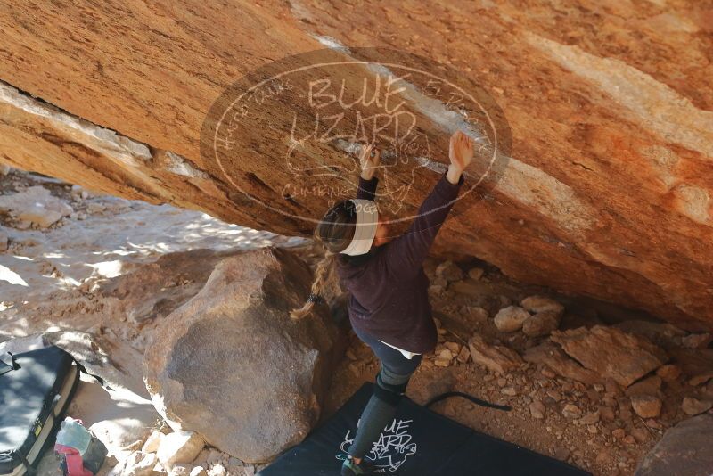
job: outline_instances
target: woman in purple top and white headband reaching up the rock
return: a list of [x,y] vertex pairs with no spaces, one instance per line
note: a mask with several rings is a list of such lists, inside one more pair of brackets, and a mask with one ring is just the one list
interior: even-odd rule
[[350,294],[348,314],[352,328],[381,361],[373,396],[341,466],[342,476],[373,474],[378,469],[365,460],[365,455],[393,419],[422,354],[435,349],[438,343],[430,314],[429,281],[422,263],[463,184],[463,170],[473,157],[471,138],[455,132],[450,138],[447,173],[423,201],[406,234],[392,239],[389,220],[379,214],[373,201],[380,152],[374,150],[372,157],[372,149],[362,148],[356,200],[340,201],[316,226],[316,239],[325,248],[324,259],[316,268],[307,303],[291,315],[307,315],[319,300],[324,277],[336,260],[340,283]]

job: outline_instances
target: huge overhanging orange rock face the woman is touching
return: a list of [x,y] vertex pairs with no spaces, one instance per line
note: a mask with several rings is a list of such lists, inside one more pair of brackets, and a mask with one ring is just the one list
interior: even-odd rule
[[[7,7],[0,161],[308,235],[375,140],[402,229],[464,127],[483,147],[434,252],[710,329],[711,25],[709,7],[666,0]],[[357,101],[377,77],[381,101]]]

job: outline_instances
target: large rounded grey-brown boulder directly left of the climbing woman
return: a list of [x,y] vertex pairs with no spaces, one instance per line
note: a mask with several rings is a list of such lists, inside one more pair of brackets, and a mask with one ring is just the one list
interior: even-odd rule
[[221,261],[203,289],[168,315],[144,357],[154,405],[175,430],[259,463],[316,423],[337,330],[325,304],[291,320],[312,275],[287,250]]

